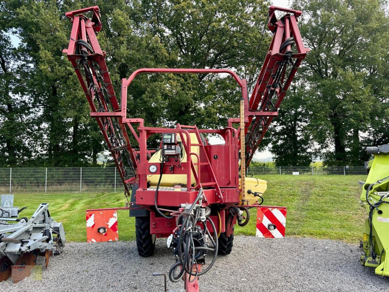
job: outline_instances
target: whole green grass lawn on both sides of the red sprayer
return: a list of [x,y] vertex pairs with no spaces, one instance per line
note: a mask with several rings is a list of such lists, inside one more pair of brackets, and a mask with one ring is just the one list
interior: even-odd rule
[[[365,176],[260,176],[268,181],[265,205],[286,206],[286,234],[357,242],[367,214],[358,204]],[[30,217],[40,203],[49,203],[54,220],[62,222],[69,241],[86,241],[85,210],[123,207],[123,193],[22,193],[14,205],[27,206],[21,213]],[[135,239],[135,220],[128,210],[118,210],[119,239]],[[236,234],[255,235],[256,209],[250,223],[235,227]]]

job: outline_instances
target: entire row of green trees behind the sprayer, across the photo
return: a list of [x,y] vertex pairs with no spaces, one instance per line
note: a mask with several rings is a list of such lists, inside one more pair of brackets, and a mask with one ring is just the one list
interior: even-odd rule
[[[98,34],[117,79],[138,68],[226,68],[252,89],[270,42],[259,0],[0,0],[0,164],[96,165],[106,149],[67,58],[65,12],[99,5]],[[262,148],[276,164],[361,165],[363,148],[389,142],[389,27],[384,0],[293,0],[312,51]],[[105,38],[106,36],[106,38]],[[15,40],[19,40],[15,44]],[[254,62],[255,61],[255,62]],[[254,63],[254,64],[253,64]],[[253,66],[253,67],[252,67]],[[253,68],[253,73],[251,70]],[[128,113],[154,127],[226,126],[240,90],[217,74],[140,74]]]

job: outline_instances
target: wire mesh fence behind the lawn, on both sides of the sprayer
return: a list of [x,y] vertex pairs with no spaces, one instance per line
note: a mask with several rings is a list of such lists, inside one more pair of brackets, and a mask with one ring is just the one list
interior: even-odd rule
[[[364,175],[352,167],[248,167],[252,175]],[[0,193],[123,192],[115,167],[0,168]]]

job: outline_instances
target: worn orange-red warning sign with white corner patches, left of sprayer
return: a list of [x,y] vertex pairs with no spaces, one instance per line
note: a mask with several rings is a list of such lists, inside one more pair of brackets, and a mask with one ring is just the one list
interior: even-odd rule
[[88,242],[117,241],[116,210],[86,210],[86,239]]

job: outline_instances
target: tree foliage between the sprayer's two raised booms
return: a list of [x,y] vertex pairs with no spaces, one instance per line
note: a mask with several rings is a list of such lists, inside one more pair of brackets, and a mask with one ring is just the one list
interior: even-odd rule
[[[110,36],[123,35],[119,30],[132,35],[125,47],[112,46],[115,58],[121,56],[116,62],[121,78],[139,67],[141,57],[142,67],[228,68],[250,77],[267,14],[263,2],[157,0],[136,1],[133,7],[133,12],[115,11],[108,16]],[[137,43],[136,36],[142,42]],[[138,49],[135,63],[134,45]],[[262,55],[267,45],[265,37],[259,48]],[[231,77],[154,74],[138,76],[129,95],[128,111],[142,116],[148,125],[214,128],[226,126],[227,117],[237,116],[240,90]]]

